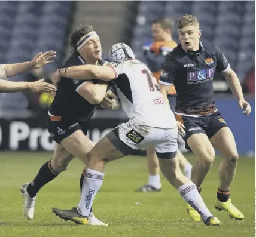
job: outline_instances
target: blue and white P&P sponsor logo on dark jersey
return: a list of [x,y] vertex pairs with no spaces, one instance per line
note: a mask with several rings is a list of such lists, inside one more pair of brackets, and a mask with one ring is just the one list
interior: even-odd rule
[[214,78],[214,73],[214,68],[187,72],[187,84],[198,84],[206,81],[211,81]]

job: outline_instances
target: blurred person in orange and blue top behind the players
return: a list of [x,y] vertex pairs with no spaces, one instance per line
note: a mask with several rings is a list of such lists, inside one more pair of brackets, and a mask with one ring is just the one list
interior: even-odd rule
[[[160,69],[166,55],[177,46],[176,42],[172,39],[173,28],[174,21],[172,19],[154,20],[151,26],[154,41],[148,41],[143,47],[147,66],[151,72],[153,72],[157,81],[159,80],[161,74]],[[174,85],[168,92],[168,99],[171,109],[174,110],[176,104],[176,91]],[[182,138],[179,140],[182,140]],[[184,168],[185,176],[190,178],[192,166],[179,150],[178,158],[179,165],[181,165],[181,168]],[[161,190],[159,161],[154,151],[154,147],[149,147],[147,149],[147,159],[149,171],[148,184],[139,187],[139,189],[135,190],[136,192],[156,192]]]

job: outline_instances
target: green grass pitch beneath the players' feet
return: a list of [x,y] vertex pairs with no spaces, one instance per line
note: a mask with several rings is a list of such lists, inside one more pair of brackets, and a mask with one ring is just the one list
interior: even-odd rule
[[[216,211],[213,204],[218,187],[218,164],[206,177],[202,196],[209,210],[220,218],[221,227],[194,223],[186,213],[185,201],[163,180],[160,193],[134,193],[133,189],[147,182],[145,158],[127,157],[106,167],[105,180],[94,203],[96,216],[109,227],[77,226],[60,220],[52,207],[71,208],[80,199],[79,178],[83,167],[72,161],[68,170],[45,186],[36,200],[35,218],[26,221],[22,213],[21,184],[31,181],[51,153],[0,153],[0,236],[255,236],[255,161],[240,158],[231,187],[233,203],[245,214],[245,220],[230,219],[227,213]],[[195,162],[190,155],[191,162]]]

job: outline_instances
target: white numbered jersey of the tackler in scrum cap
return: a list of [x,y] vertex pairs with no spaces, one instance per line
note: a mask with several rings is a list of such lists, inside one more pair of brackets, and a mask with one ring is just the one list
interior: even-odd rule
[[129,119],[139,125],[175,128],[172,110],[164,101],[153,73],[139,60],[108,63],[116,73],[117,95]]

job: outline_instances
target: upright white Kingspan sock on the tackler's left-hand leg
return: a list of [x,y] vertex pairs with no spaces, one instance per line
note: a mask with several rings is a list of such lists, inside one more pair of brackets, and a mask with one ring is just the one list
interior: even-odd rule
[[81,200],[78,204],[77,210],[83,216],[89,216],[93,200],[95,199],[97,191],[99,191],[104,173],[86,169],[84,174],[83,188],[81,194]]

